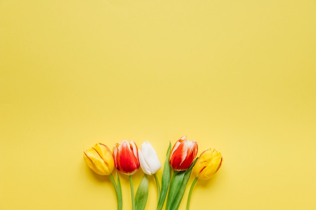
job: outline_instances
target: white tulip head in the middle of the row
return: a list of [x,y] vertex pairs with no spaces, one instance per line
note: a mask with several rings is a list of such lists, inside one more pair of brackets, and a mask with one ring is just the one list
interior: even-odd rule
[[148,141],[141,145],[141,150],[138,150],[138,157],[140,167],[145,174],[155,174],[162,167],[156,151]]

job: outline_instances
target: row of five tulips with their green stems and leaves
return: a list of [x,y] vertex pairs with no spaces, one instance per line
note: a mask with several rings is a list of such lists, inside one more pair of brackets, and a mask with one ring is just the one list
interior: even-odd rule
[[[198,179],[211,178],[221,167],[222,154],[215,149],[208,149],[196,158],[198,146],[193,141],[188,141],[186,136],[181,137],[171,149],[171,143],[167,150],[167,158],[164,164],[161,187],[156,172],[162,167],[159,158],[149,142],[144,142],[139,150],[133,141],[123,141],[113,147],[113,153],[104,144],[98,143],[84,152],[83,158],[86,164],[99,175],[108,175],[114,185],[118,210],[122,210],[122,190],[118,173],[116,180],[112,173],[114,168],[129,176],[132,210],[144,210],[148,198],[148,178],[153,175],[157,186],[157,207],[162,210],[167,198],[166,210],[177,210],[180,206],[191,172],[195,176],[191,184],[187,200],[188,210],[193,187]],[[139,167],[144,176],[138,185],[134,195],[132,175]],[[171,177],[173,171],[173,175]],[[168,197],[167,197],[167,192]]]

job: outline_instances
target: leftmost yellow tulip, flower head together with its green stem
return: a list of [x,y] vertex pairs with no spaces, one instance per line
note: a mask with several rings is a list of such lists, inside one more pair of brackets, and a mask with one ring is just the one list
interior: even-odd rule
[[118,210],[122,210],[122,189],[118,174],[117,184],[112,175],[114,170],[114,159],[111,150],[106,145],[98,143],[94,145],[94,147],[83,152],[83,159],[88,167],[95,173],[99,175],[110,175],[117,196]]

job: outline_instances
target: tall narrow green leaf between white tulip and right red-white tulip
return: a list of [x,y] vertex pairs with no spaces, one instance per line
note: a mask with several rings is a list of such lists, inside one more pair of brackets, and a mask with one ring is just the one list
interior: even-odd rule
[[160,193],[160,198],[159,198],[156,210],[163,209],[163,206],[164,206],[164,203],[166,200],[166,196],[167,196],[167,192],[168,192],[168,187],[169,187],[170,178],[171,178],[171,167],[169,164],[170,152],[171,152],[171,142],[169,142],[169,147],[167,150],[167,157],[166,157],[163,176],[162,176],[162,190]]

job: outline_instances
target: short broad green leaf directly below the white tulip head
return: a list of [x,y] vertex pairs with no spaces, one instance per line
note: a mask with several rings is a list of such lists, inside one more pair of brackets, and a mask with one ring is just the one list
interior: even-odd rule
[[147,198],[148,198],[148,178],[147,178],[147,175],[144,174],[135,195],[135,209],[144,210],[146,206]]

